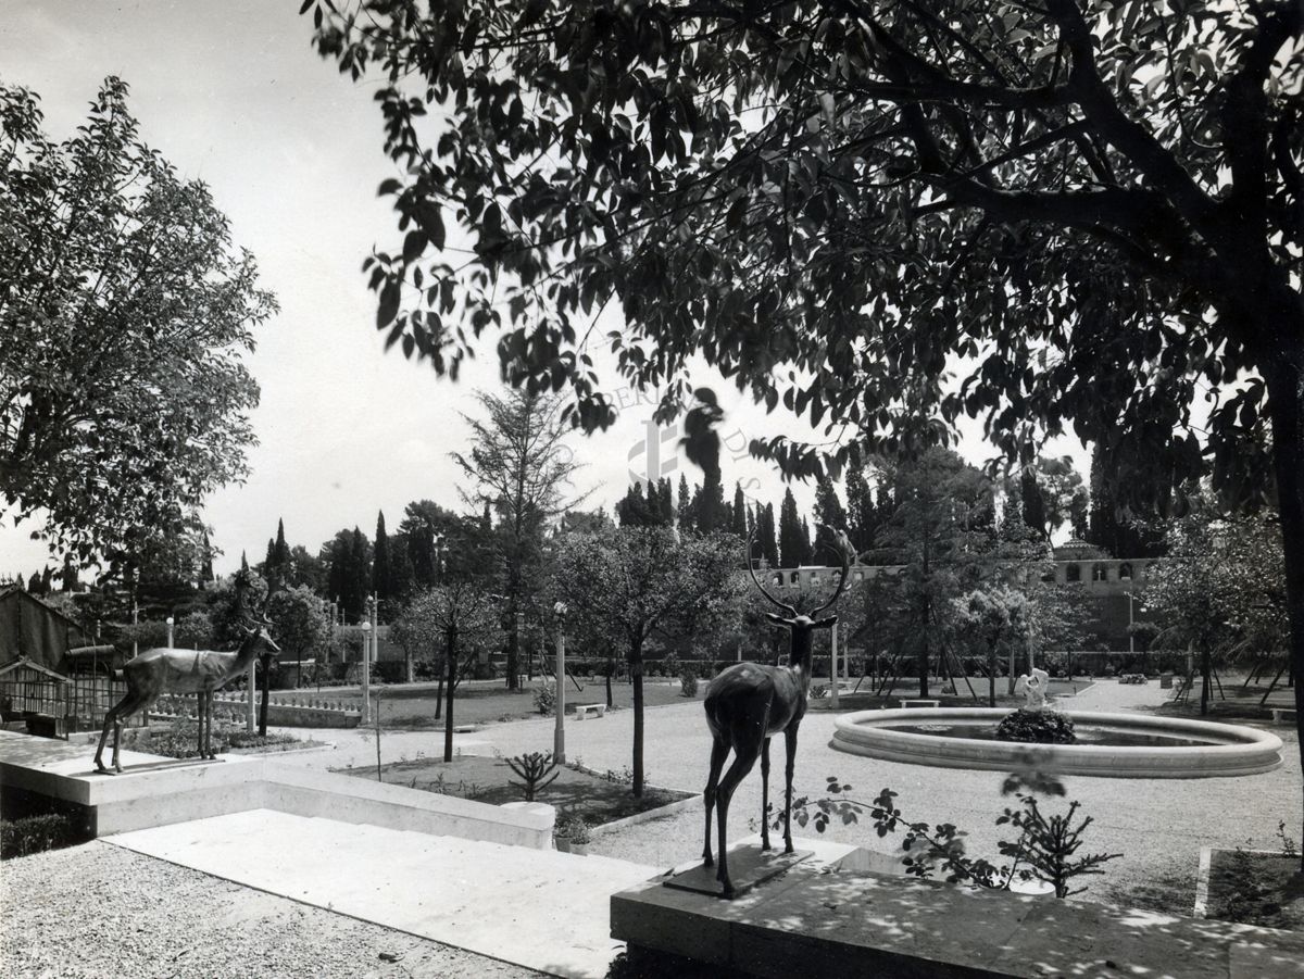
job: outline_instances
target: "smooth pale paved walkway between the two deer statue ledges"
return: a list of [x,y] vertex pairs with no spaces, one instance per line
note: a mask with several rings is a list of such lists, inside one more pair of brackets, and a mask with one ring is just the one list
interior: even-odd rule
[[621,948],[609,935],[610,896],[659,872],[271,810],[104,842],[541,972],[595,979]]

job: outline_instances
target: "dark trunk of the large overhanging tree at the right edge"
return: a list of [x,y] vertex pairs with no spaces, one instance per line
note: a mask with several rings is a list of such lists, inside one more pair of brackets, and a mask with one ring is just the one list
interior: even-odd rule
[[[1301,317],[1277,325],[1291,331],[1291,348],[1264,358],[1267,407],[1273,422],[1273,463],[1277,471],[1278,508],[1282,519],[1282,554],[1286,563],[1286,609],[1290,619],[1290,664],[1304,669],[1304,325]],[[1284,345],[1284,344],[1283,344]],[[1295,684],[1295,725],[1300,734],[1304,769],[1304,684]],[[1304,815],[1304,799],[1301,799]],[[1304,868],[1304,858],[1301,858]]]

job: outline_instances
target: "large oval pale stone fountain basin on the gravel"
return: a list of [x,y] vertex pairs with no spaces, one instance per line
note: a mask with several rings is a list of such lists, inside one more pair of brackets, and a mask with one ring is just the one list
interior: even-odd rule
[[996,740],[1003,708],[857,710],[835,721],[831,747],[934,768],[1047,772],[1102,778],[1214,778],[1270,772],[1282,739],[1254,727],[1180,717],[1067,712],[1074,744]]

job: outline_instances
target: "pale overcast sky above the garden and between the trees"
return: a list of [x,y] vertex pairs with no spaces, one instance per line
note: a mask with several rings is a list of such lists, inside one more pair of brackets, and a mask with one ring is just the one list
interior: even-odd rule
[[[359,269],[373,244],[395,239],[389,205],[376,197],[395,172],[381,149],[373,89],[317,57],[297,8],[297,0],[29,0],[5,4],[0,18],[0,77],[40,94],[46,132],[68,137],[102,80],[124,78],[143,139],[183,176],[211,186],[236,244],[257,256],[262,284],[279,299],[249,360],[262,387],[252,476],[205,507],[224,551],[219,572],[233,570],[243,550],[262,559],[278,518],[291,544],[316,551],[344,527],[370,536],[378,510],[393,529],[412,499],[458,506],[459,473],[447,458],[467,446],[458,412],[471,411],[476,387],[498,387],[492,348],[459,383],[382,353]],[[717,390],[730,446],[803,431]],[[630,469],[644,472],[638,443],[652,413],[632,394],[613,394],[623,405],[615,428],[574,439],[588,463],[579,489],[596,488],[595,504],[609,510]],[[964,448],[975,461],[990,454],[977,439]],[[700,481],[682,459],[668,469],[672,450],[662,451],[662,472]],[[726,458],[724,476],[730,488],[735,478],[759,488],[777,508],[782,486],[771,467]],[[811,488],[797,493],[808,506]],[[27,540],[29,531],[0,527],[0,574],[47,563],[46,545]]]

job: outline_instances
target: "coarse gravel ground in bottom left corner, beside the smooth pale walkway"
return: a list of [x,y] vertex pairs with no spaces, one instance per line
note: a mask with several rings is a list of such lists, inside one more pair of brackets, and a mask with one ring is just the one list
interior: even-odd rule
[[102,842],[5,860],[0,920],[9,979],[541,975]]

